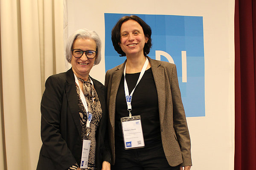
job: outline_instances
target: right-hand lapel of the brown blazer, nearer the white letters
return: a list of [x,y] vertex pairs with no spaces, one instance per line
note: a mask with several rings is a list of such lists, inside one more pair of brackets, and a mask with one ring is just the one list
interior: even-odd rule
[[161,67],[160,63],[154,59],[148,57],[151,64],[151,69],[154,77],[154,82],[157,88],[157,98],[158,98],[158,110],[160,116],[160,124],[163,123],[164,113],[165,113],[165,74],[164,69]]

